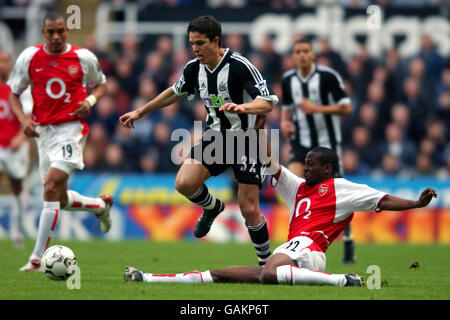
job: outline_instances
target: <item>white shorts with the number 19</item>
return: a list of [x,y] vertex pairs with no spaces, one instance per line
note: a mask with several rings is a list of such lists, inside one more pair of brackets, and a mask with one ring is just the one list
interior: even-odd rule
[[74,169],[84,168],[83,150],[87,135],[83,136],[84,126],[80,121],[37,126],[35,130],[40,135],[36,142],[42,181],[45,181],[50,168],[62,170],[68,175]]

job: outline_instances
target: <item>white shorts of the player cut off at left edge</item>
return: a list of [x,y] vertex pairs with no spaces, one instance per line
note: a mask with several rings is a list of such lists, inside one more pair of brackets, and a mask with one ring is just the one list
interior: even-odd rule
[[29,152],[30,142],[28,140],[24,140],[15,152],[10,148],[0,147],[0,172],[6,172],[14,179],[24,179],[30,165]]

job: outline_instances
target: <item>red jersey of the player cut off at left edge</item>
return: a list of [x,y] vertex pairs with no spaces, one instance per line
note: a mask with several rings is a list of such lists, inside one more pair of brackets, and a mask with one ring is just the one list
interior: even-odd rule
[[7,148],[20,131],[20,122],[9,107],[11,89],[6,83],[0,84],[0,147]]

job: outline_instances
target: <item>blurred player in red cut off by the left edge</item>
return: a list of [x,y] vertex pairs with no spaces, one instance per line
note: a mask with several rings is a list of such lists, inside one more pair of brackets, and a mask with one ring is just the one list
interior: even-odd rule
[[28,173],[29,141],[20,128],[20,122],[9,107],[11,89],[6,84],[12,68],[11,55],[0,50],[0,173],[8,176],[13,194],[10,211],[10,237],[14,246],[22,247],[21,221],[26,209],[23,180]]

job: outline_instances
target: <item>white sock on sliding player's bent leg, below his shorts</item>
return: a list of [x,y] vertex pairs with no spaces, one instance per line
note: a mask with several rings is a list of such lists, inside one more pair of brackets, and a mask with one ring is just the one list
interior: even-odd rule
[[283,284],[313,284],[343,287],[347,280],[345,274],[331,274],[320,271],[299,268],[292,265],[277,268],[278,283]]

